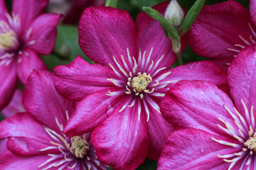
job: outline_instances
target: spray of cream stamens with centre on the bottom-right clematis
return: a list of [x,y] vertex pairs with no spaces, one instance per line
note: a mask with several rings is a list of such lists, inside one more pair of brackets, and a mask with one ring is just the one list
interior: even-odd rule
[[[255,118],[253,114],[253,106],[251,106],[250,113],[245,105],[245,102],[241,99],[242,106],[245,109],[245,118],[238,112],[238,110],[234,107],[233,110],[235,111],[236,115],[234,115],[227,106],[223,106],[225,110],[230,113],[230,115],[235,120],[235,124],[238,126],[238,130],[233,128],[230,123],[225,122],[221,118],[218,118],[222,123],[225,124],[226,128],[221,125],[218,127],[223,130],[223,132],[227,133],[228,135],[233,136],[235,142],[227,142],[224,140],[218,140],[212,137],[212,140],[218,142],[222,145],[227,145],[231,147],[236,147],[240,149],[240,152],[235,152],[233,154],[224,154],[218,155],[218,157],[223,158],[225,162],[231,162],[228,169],[232,169],[235,164],[238,163],[242,159],[242,164],[240,164],[240,169],[243,169],[244,166],[247,166],[247,169],[250,169],[250,164],[255,163],[255,153],[256,153],[256,132],[255,132]],[[231,158],[231,159],[230,159]],[[252,161],[253,160],[253,161]]]

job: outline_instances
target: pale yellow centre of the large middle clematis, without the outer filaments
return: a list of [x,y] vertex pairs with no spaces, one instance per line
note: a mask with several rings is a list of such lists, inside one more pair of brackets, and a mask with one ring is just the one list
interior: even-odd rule
[[151,81],[152,78],[150,77],[150,74],[141,74],[139,72],[137,77],[132,78],[132,88],[136,91],[136,93],[143,92],[146,90],[146,87],[151,83]]

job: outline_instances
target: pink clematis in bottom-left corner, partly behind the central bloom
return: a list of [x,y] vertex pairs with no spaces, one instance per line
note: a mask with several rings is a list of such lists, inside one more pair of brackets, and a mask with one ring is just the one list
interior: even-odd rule
[[0,123],[0,138],[9,138],[0,169],[108,169],[97,159],[90,132],[74,137],[63,134],[73,102],[55,91],[50,72],[31,74],[23,105],[28,113],[16,113]]

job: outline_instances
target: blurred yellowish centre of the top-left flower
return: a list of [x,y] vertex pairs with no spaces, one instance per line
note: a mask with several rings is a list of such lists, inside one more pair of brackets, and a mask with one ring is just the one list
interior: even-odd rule
[[16,33],[14,30],[11,30],[7,23],[1,21],[0,23],[0,48],[2,50],[10,50],[11,48],[16,47],[18,40],[16,38]]

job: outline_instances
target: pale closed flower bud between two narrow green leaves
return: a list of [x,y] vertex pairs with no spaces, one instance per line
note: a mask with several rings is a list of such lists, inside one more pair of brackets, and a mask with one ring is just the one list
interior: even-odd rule
[[184,19],[184,13],[176,0],[171,0],[170,4],[167,6],[164,18],[166,18],[171,26],[181,25]]

